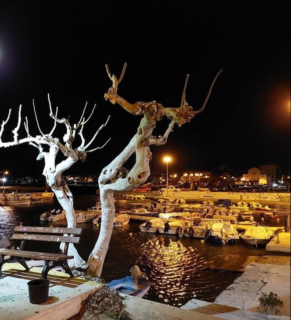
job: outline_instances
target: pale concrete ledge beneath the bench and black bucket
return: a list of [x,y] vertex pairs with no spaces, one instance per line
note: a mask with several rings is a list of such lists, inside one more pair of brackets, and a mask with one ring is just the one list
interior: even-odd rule
[[27,283],[41,278],[42,268],[25,271],[19,264],[5,264],[0,279],[1,320],[61,320],[77,314],[82,301],[98,290],[100,284],[50,271],[49,300],[41,304],[29,301]]

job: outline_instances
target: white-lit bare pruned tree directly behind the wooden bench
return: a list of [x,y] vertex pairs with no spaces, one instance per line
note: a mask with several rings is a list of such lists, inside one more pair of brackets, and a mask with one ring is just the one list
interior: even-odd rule
[[[74,210],[74,203],[73,203],[73,195],[71,191],[69,190],[68,185],[62,178],[62,174],[64,171],[68,170],[73,164],[75,164],[79,159],[81,159],[82,162],[85,161],[87,153],[93,152],[97,149],[103,148],[106,143],[110,140],[108,139],[104,145],[95,147],[93,149],[88,149],[93,141],[95,140],[97,134],[100,132],[100,130],[107,124],[109,117],[105,124],[102,124],[97,131],[95,132],[94,136],[91,138],[91,140],[86,144],[85,138],[83,136],[83,129],[84,125],[89,121],[91,118],[94,108],[91,111],[91,114],[89,117],[85,120],[84,114],[87,107],[87,103],[85,104],[85,107],[83,109],[82,115],[80,117],[80,120],[78,123],[75,123],[73,126],[70,124],[68,119],[62,118],[59,119],[57,117],[58,108],[56,108],[56,113],[54,114],[52,111],[52,106],[50,102],[50,97],[48,95],[49,100],[49,107],[50,107],[50,117],[54,119],[54,125],[52,130],[45,134],[39,125],[37,113],[35,104],[33,101],[33,107],[34,107],[34,113],[36,117],[36,122],[38,129],[40,131],[40,135],[32,136],[29,132],[29,123],[28,118],[26,117],[26,120],[24,121],[25,130],[27,132],[27,137],[23,139],[18,138],[18,131],[21,126],[21,108],[19,107],[19,113],[18,113],[18,123],[15,129],[12,131],[14,134],[13,141],[11,142],[2,142],[2,134],[4,132],[4,127],[9,121],[10,115],[11,115],[11,109],[9,110],[8,117],[6,120],[2,122],[1,129],[0,129],[0,147],[11,147],[14,145],[18,145],[21,143],[29,143],[30,145],[36,147],[38,149],[38,156],[37,160],[44,159],[45,166],[43,170],[43,175],[46,177],[46,181],[48,185],[51,187],[52,191],[56,195],[56,198],[58,199],[60,205],[62,208],[66,211],[66,218],[67,218],[67,225],[68,227],[76,227],[76,216],[75,216],[75,210]],[[59,138],[53,137],[53,133],[55,131],[56,125],[63,124],[66,128],[66,133],[63,136],[64,143],[60,142]],[[81,143],[78,147],[73,147],[73,142],[75,141],[76,132],[78,131],[78,134],[81,139]],[[48,151],[44,151],[44,147],[48,147]],[[59,164],[56,164],[56,156],[58,152],[61,151],[63,155],[66,157],[65,160],[61,161]],[[61,248],[64,244],[61,245]],[[68,254],[73,255],[74,259],[69,261],[71,268],[77,268],[77,267],[86,267],[85,262],[83,259],[79,256],[76,249],[72,244],[69,246]]]

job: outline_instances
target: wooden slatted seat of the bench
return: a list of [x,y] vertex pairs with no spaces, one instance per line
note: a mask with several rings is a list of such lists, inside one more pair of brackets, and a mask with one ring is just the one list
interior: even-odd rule
[[74,256],[50,254],[45,252],[12,250],[12,249],[0,249],[0,254],[13,256],[13,257],[32,258],[32,259],[38,259],[38,260],[52,260],[52,261],[63,261],[63,260],[74,258]]

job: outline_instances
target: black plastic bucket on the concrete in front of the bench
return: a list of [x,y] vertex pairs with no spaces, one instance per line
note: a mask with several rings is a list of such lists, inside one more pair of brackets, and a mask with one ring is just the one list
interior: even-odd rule
[[48,301],[50,280],[32,280],[27,285],[30,303],[39,304]]

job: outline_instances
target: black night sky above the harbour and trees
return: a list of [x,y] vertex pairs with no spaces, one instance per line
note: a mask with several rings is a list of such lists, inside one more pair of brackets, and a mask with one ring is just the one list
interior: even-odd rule
[[[109,137],[111,141],[68,173],[99,174],[125,147],[140,121],[140,116],[103,98],[111,86],[105,64],[120,75],[124,62],[128,65],[118,86],[121,97],[131,103],[156,100],[179,107],[189,73],[186,100],[196,110],[223,69],[204,112],[181,128],[176,125],[166,145],[152,146],[152,171],[165,171],[165,154],[175,158],[170,171],[210,170],[221,164],[289,167],[288,0],[1,2],[0,120],[13,109],[3,141],[13,138],[20,104],[36,135],[33,98],[46,132],[53,125],[48,93],[53,108],[59,107],[59,117],[70,116],[71,123],[88,101],[89,107],[97,108],[84,128],[86,139],[111,115],[92,146]],[[154,134],[164,134],[168,124],[163,118]],[[19,133],[25,137],[24,128]],[[57,134],[62,138],[64,128]],[[20,145],[0,152],[0,171],[41,175],[44,164],[36,161],[36,148]]]

